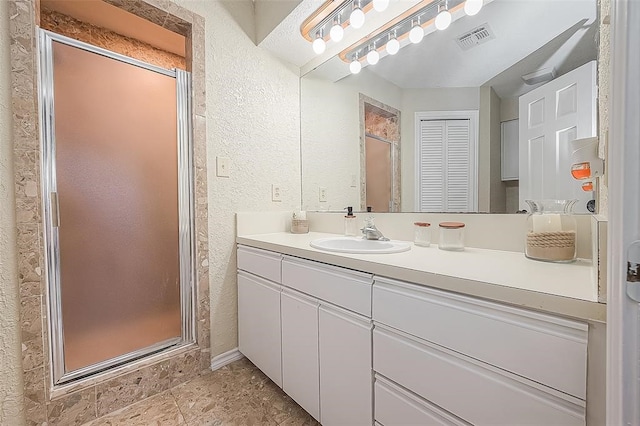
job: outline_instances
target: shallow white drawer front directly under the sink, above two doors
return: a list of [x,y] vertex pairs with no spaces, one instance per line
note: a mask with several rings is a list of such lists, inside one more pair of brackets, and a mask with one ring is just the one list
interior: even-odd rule
[[285,256],[282,284],[371,318],[371,274]]

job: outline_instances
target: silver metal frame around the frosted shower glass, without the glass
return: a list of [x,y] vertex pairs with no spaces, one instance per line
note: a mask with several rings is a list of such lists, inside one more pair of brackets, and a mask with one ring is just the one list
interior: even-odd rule
[[[73,371],[65,371],[64,329],[62,323],[60,246],[58,240],[58,200],[56,182],[55,115],[53,95],[53,42],[59,42],[110,59],[137,66],[176,79],[178,153],[178,227],[180,253],[181,336],[158,342]],[[52,385],[62,385],[120,366],[163,350],[195,343],[195,207],[193,168],[193,128],[191,125],[191,74],[167,70],[134,58],[38,29],[39,123],[41,137],[42,211],[47,278],[47,309],[50,335]]]

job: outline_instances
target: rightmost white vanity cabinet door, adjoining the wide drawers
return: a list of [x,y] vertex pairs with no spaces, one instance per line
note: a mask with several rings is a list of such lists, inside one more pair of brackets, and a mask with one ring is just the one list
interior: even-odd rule
[[322,424],[371,425],[371,321],[324,305],[319,318]]

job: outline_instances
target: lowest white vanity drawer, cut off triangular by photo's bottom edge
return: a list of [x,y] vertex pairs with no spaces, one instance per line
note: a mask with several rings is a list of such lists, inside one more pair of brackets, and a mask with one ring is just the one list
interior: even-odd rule
[[376,375],[375,418],[383,425],[470,426],[469,423]]

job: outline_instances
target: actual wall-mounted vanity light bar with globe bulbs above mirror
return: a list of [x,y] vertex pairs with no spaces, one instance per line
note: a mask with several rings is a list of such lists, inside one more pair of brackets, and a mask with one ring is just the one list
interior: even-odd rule
[[[342,3],[329,0],[302,23],[300,33],[310,42],[316,41],[319,34],[322,34],[321,37],[325,43],[329,40],[339,42],[343,31],[339,28],[331,31],[334,26],[342,29],[348,26],[360,28],[371,9],[382,12],[388,5],[388,0],[346,0]],[[318,53],[316,49],[314,51]]]

